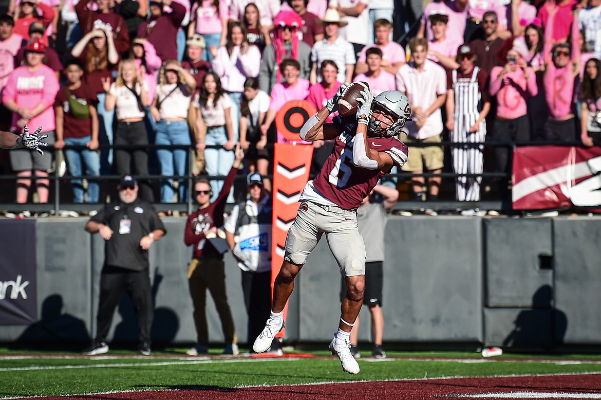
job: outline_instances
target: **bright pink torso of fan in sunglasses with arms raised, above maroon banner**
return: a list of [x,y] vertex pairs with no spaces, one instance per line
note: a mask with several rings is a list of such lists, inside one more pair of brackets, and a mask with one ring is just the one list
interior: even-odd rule
[[543,83],[549,117],[554,120],[563,120],[572,114],[572,93],[574,90],[574,78],[572,66],[557,69],[553,63],[547,65],[547,71]]

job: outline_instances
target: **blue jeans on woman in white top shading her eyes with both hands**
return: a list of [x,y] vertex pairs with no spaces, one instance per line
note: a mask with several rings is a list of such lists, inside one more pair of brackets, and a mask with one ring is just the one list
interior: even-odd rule
[[[156,144],[177,144],[191,145],[190,131],[188,122],[184,121],[163,121],[157,123]],[[159,158],[160,174],[163,176],[179,175],[185,176],[188,173],[188,153],[189,149],[157,149],[156,155]],[[185,178],[178,178],[179,201],[185,202],[187,196],[187,185]],[[175,194],[174,179],[160,180],[160,202],[173,203]]]

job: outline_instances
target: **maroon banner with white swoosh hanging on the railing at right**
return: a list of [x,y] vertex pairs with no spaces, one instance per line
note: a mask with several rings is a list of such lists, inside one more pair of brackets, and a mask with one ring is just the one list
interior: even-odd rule
[[516,147],[511,175],[513,208],[598,208],[600,172],[600,147]]

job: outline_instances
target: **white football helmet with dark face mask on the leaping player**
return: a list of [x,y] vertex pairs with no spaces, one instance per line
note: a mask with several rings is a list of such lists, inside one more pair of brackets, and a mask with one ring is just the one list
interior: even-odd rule
[[409,99],[398,90],[386,90],[374,97],[373,103],[371,103],[371,111],[376,108],[380,108],[386,114],[391,115],[395,122],[383,128],[382,122],[371,118],[370,129],[367,132],[370,136],[395,137],[400,134],[407,121],[412,121]]

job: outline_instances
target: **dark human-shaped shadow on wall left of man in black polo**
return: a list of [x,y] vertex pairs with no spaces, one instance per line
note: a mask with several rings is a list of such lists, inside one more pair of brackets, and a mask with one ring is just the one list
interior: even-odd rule
[[72,349],[90,342],[82,319],[63,313],[63,297],[53,294],[41,305],[41,319],[29,327],[13,343],[18,348]]

